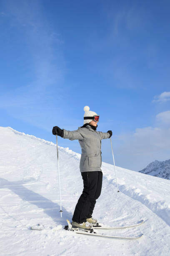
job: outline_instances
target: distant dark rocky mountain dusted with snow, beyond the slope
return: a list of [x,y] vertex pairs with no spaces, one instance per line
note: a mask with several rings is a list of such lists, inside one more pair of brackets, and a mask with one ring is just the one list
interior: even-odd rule
[[166,161],[155,160],[139,172],[163,179],[170,179],[170,159]]

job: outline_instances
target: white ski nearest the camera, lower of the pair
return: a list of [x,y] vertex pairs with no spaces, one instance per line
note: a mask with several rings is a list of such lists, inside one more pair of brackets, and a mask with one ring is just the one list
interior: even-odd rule
[[138,239],[143,236],[141,233],[139,236],[136,237],[130,237],[130,236],[108,236],[108,235],[102,235],[102,234],[97,234],[93,229],[91,230],[82,230],[80,228],[72,228],[72,225],[69,220],[67,220],[68,225],[65,226],[65,230],[72,231],[77,234],[82,234],[82,235],[88,235],[88,236],[100,236],[100,237],[105,237],[105,238],[119,238],[119,239]]

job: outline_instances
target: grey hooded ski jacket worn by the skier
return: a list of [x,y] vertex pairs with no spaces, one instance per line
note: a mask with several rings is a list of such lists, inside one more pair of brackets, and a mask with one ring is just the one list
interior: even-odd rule
[[101,171],[101,140],[109,138],[109,133],[94,131],[90,125],[79,127],[76,131],[63,129],[63,138],[78,140],[82,148],[80,159],[80,172]]

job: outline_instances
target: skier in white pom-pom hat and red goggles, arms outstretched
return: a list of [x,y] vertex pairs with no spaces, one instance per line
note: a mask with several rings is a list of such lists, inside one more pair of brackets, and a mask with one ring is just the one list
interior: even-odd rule
[[67,131],[54,126],[52,134],[71,141],[78,140],[82,148],[80,172],[84,189],[75,207],[71,224],[73,228],[90,230],[92,225],[97,224],[97,220],[92,218],[92,212],[102,189],[101,140],[110,138],[112,131],[107,133],[96,131],[99,115],[90,111],[88,106],[84,107],[84,111],[83,126],[76,131]]

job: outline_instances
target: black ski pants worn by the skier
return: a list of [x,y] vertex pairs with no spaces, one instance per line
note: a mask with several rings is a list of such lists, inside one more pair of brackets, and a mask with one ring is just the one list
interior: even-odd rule
[[102,172],[81,172],[84,189],[80,196],[72,220],[77,223],[86,222],[92,217],[96,199],[102,190]]

